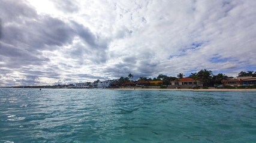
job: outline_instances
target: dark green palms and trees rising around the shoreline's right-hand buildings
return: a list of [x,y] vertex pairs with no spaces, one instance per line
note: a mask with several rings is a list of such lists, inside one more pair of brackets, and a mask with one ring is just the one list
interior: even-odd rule
[[[177,74],[177,77],[173,77],[173,76],[167,76],[164,74],[159,74],[157,77],[153,77],[153,79],[151,77],[144,77],[141,76],[138,78],[138,80],[131,80],[134,78],[134,75],[129,73],[127,77],[120,77],[118,79],[118,81],[122,84],[122,83],[127,83],[127,82],[142,82],[142,81],[159,81],[161,80],[162,83],[164,85],[170,85],[170,82],[173,80],[179,80],[182,79],[183,77],[185,77],[186,75],[183,73],[179,73]],[[256,71],[241,71],[238,74],[239,77],[243,77],[243,76],[252,76],[252,77],[256,77]],[[216,75],[214,75],[212,73],[211,70],[200,70],[197,73],[191,73],[189,74],[188,77],[191,77],[194,80],[200,80],[201,82],[203,82],[203,86],[216,86],[216,85],[221,85],[221,81],[225,80],[225,79],[232,79],[234,77],[228,77],[223,73],[218,73]]]

